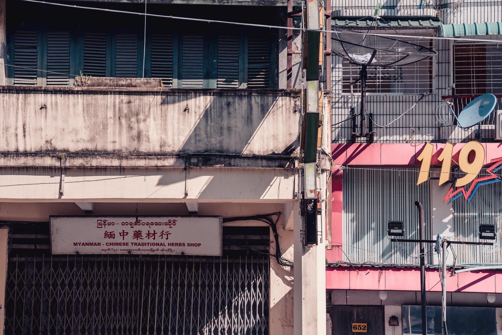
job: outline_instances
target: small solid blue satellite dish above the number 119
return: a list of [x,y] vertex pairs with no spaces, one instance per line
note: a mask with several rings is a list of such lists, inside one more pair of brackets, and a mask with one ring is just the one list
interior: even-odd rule
[[496,104],[497,98],[493,94],[483,94],[469,102],[458,117],[455,116],[455,113],[453,115],[457,119],[460,128],[470,128],[476,124],[481,124],[490,115]]

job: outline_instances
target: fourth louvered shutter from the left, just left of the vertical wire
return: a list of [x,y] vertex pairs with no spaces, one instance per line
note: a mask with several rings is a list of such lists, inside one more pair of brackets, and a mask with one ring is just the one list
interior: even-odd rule
[[115,77],[138,76],[138,35],[117,34],[115,39]]

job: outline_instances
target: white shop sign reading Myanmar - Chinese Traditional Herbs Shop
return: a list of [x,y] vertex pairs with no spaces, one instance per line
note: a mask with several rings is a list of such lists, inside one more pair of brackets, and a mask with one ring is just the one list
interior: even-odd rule
[[221,256],[220,217],[51,217],[53,254]]

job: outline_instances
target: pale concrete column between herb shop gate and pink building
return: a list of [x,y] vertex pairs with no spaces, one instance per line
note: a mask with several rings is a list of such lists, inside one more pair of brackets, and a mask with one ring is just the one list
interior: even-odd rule
[[[325,198],[326,173],[321,177],[321,189]],[[326,245],[324,239],[325,202],[318,216],[318,245],[303,245],[302,218],[299,210],[294,213],[294,333],[295,335],[326,334]],[[298,207],[297,207],[298,208]]]

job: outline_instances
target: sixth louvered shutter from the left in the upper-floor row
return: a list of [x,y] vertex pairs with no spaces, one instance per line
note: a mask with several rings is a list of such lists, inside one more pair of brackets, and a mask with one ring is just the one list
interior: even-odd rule
[[184,35],[182,48],[183,88],[202,88],[204,77],[204,37]]

